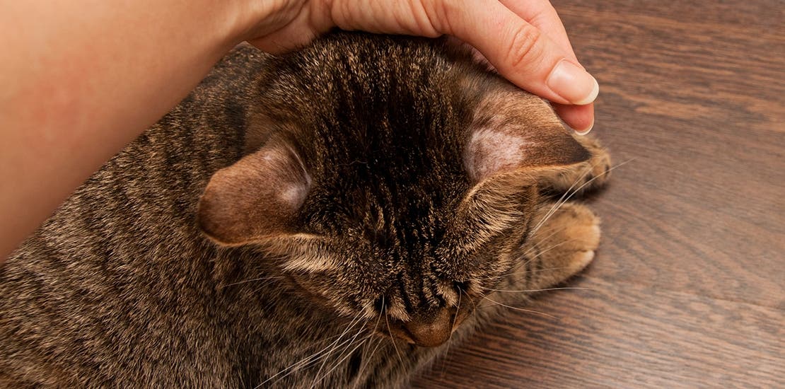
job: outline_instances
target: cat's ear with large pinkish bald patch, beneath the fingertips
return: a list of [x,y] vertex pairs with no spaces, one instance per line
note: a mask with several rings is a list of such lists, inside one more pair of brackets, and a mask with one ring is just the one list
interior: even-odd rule
[[520,90],[496,92],[480,102],[463,151],[464,167],[475,184],[500,173],[589,158],[550,105]]

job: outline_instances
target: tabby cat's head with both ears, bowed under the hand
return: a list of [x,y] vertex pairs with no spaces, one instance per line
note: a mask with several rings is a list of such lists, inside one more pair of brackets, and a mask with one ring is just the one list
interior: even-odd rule
[[542,171],[589,158],[550,105],[444,41],[331,35],[259,88],[250,152],[210,179],[199,226],[422,346],[514,266]]

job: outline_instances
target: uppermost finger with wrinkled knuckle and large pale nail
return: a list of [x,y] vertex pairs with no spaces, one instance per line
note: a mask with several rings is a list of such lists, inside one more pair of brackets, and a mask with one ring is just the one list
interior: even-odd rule
[[[600,87],[571,55],[495,0],[462,2],[443,16],[444,33],[468,42],[512,83],[559,104],[587,105]],[[467,6],[470,5],[470,6]]]

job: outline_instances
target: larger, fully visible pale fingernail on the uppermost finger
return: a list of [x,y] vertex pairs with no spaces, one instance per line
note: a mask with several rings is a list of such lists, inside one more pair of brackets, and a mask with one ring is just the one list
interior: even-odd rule
[[575,105],[587,105],[600,93],[597,80],[567,60],[561,60],[553,68],[546,83],[551,90]]

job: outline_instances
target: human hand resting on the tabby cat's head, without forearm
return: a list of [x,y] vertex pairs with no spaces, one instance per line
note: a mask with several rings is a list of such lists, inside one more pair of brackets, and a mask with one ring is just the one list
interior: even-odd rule
[[599,86],[547,0],[255,0],[251,11],[246,40],[272,53],[294,50],[333,27],[455,36],[509,81],[552,101],[568,126],[579,133],[593,126]]

